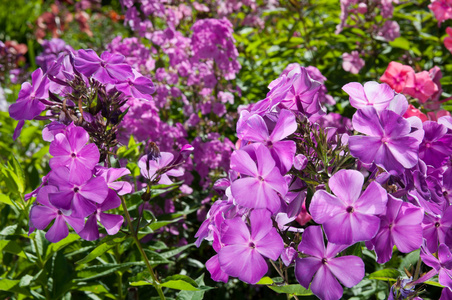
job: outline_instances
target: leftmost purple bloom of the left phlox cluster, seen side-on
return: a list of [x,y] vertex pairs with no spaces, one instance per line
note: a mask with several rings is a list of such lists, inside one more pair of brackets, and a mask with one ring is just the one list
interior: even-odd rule
[[40,100],[49,97],[49,79],[39,68],[31,74],[31,80],[32,84],[22,84],[16,103],[9,107],[9,115],[14,120],[32,120],[46,108]]

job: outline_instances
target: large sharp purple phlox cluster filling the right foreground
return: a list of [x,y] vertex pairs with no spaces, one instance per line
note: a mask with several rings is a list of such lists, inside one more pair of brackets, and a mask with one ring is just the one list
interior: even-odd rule
[[222,198],[196,234],[217,252],[206,262],[212,278],[255,284],[266,260],[280,260],[279,274],[294,266],[303,287],[340,299],[342,285],[366,274],[360,257],[343,252],[358,243],[380,264],[394,246],[421,249],[432,269],[400,278],[393,299],[415,297],[437,274],[450,293],[452,118],[422,122],[387,83],[353,82],[343,87],[357,110],[350,121],[326,114],[320,85],[289,65],[267,98],[241,111],[229,176],[214,185]]

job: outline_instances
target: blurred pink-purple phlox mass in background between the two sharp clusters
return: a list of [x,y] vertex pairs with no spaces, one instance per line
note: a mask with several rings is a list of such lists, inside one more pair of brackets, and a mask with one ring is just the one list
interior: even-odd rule
[[[201,186],[206,188],[212,184],[211,177],[228,171],[233,149],[227,138],[218,140],[221,132],[229,131],[233,125],[234,115],[227,111],[234,103],[233,93],[239,93],[232,81],[240,70],[232,24],[226,18],[193,22],[196,14],[185,4],[122,4],[127,9],[125,22],[150,46],[143,46],[137,38],[116,38],[108,48],[112,53],[123,54],[131,66],[149,73],[156,93],[151,102],[129,101],[124,106],[129,113],[118,138],[125,142],[133,134],[139,141],[153,140],[162,151],[169,152],[190,141],[196,145],[195,159],[188,161],[186,168],[196,171]],[[158,27],[150,24],[151,15],[162,21]],[[187,21],[193,24],[190,36],[175,29]],[[162,61],[167,62],[166,67]],[[182,109],[183,115],[169,122],[165,112],[175,109]],[[156,130],[145,130],[148,125]],[[216,128],[216,132],[209,128]],[[190,176],[185,173],[187,183],[192,180]]]

